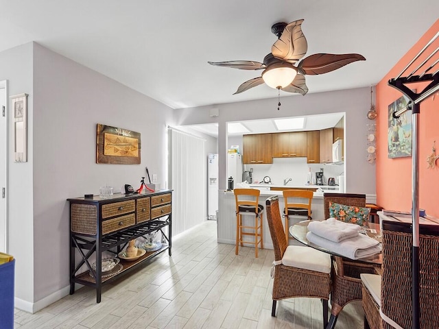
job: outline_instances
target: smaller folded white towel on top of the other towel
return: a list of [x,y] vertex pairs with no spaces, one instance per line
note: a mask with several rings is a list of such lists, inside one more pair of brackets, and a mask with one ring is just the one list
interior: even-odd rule
[[358,235],[359,229],[357,224],[344,223],[335,218],[329,218],[326,221],[310,221],[308,224],[310,232],[333,242],[353,238]]

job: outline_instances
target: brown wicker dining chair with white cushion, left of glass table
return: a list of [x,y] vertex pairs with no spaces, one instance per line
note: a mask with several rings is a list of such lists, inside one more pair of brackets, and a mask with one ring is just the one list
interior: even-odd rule
[[331,293],[331,256],[311,247],[288,245],[276,195],[267,199],[265,210],[274,247],[272,317],[278,300],[315,297],[322,300],[325,327]]

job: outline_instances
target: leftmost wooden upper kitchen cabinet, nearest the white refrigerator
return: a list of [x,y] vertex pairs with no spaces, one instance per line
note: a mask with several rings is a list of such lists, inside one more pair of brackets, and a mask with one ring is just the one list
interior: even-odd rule
[[244,135],[242,147],[244,164],[273,163],[272,134]]

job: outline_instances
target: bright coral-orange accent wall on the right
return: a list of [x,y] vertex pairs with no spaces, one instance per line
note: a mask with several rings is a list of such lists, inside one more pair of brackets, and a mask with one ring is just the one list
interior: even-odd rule
[[[438,31],[439,20],[430,27],[376,87],[378,112],[377,204],[385,209],[410,211],[412,208],[412,157],[388,158],[388,105],[403,95],[399,90],[389,86],[388,80],[399,75],[410,60]],[[434,50],[437,47],[439,47],[439,40],[436,40],[429,49]],[[427,55],[433,50],[426,51]],[[383,51],[392,51],[392,46],[389,45],[389,48]],[[438,58],[439,54],[436,53],[433,62]],[[410,88],[416,88],[419,91],[424,86],[412,84]],[[407,112],[407,114],[411,116],[412,112]],[[421,103],[419,123],[419,206],[426,210],[427,215],[439,218],[439,160],[434,169],[427,169],[427,156],[431,154],[434,141],[436,141],[436,155],[439,155],[439,93],[435,93]]]

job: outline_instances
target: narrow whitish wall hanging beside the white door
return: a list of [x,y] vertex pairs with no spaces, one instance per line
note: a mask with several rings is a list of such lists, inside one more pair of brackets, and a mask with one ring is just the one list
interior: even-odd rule
[[27,94],[11,96],[15,162],[27,162]]

